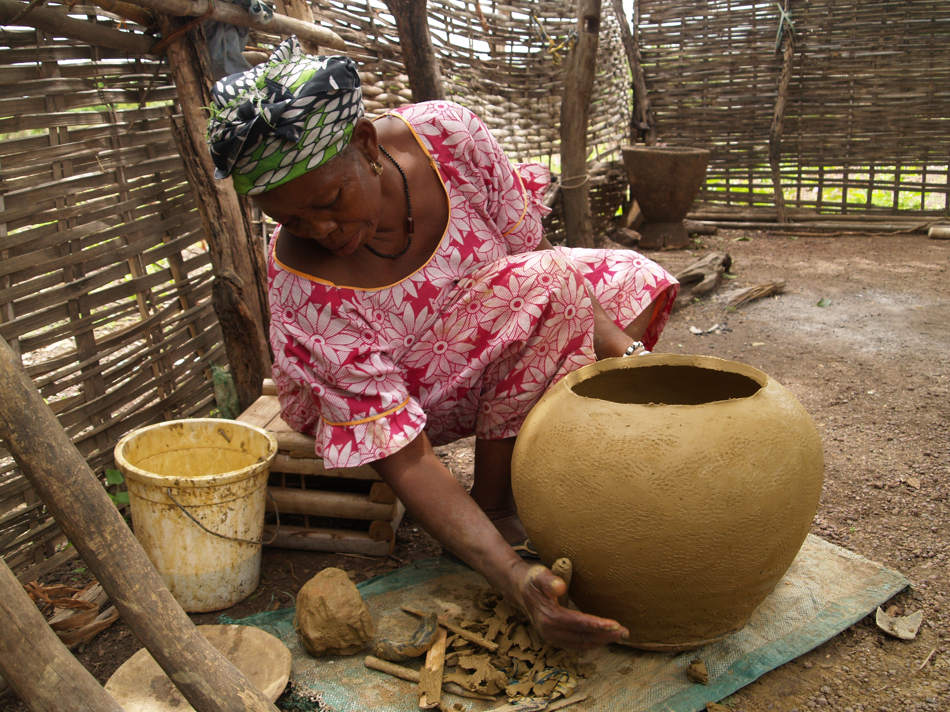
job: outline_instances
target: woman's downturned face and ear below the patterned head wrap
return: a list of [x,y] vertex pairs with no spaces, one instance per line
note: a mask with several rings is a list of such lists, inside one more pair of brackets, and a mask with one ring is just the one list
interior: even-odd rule
[[377,145],[372,122],[360,119],[338,156],[252,199],[291,233],[346,257],[376,234],[382,199],[370,162]]

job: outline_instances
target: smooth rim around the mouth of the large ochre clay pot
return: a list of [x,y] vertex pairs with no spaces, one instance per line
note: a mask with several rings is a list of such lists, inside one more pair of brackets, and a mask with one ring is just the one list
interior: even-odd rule
[[617,370],[618,368],[640,368],[650,365],[693,365],[697,368],[707,368],[713,371],[729,371],[750,378],[761,387],[750,396],[730,398],[725,401],[707,401],[706,403],[696,403],[693,405],[684,403],[622,403],[623,405],[639,408],[703,408],[707,405],[712,405],[712,403],[744,403],[750,399],[761,396],[762,392],[771,384],[769,374],[760,371],[754,366],[740,364],[737,361],[719,359],[715,356],[703,356],[701,354],[651,353],[645,356],[621,356],[616,359],[602,359],[597,363],[585,365],[573,373],[569,373],[558,385],[563,384],[563,387],[567,388],[574,398],[583,398],[587,401],[597,401],[599,403],[615,403],[602,398],[582,396],[574,390],[574,386],[580,384],[581,381],[594,378],[594,376],[605,371]]

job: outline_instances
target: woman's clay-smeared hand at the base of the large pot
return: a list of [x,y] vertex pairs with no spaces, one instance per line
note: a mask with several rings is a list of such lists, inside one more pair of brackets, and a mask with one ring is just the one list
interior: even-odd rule
[[616,643],[630,634],[617,621],[562,608],[558,598],[567,587],[541,564],[525,562],[512,574],[511,597],[549,643],[587,650]]

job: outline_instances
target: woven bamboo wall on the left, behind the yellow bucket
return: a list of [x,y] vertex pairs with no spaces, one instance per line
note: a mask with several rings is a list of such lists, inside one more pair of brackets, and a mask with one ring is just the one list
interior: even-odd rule
[[[101,474],[129,430],[208,413],[224,362],[175,88],[155,62],[35,31],[0,47],[0,334]],[[0,553],[16,570],[64,541],[0,450]]]

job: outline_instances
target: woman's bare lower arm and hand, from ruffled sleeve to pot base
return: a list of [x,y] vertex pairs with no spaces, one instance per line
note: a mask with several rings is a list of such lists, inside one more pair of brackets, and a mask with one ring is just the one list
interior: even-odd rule
[[564,609],[564,582],[541,564],[524,561],[504,541],[465,488],[439,460],[425,432],[371,467],[402,499],[409,515],[519,606],[542,637],[584,650],[627,635],[616,621]]

